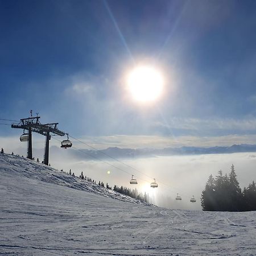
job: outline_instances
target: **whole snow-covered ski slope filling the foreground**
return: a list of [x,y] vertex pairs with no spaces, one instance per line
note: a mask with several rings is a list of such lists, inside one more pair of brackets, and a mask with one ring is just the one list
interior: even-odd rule
[[256,212],[143,205],[0,154],[1,255],[256,255]]

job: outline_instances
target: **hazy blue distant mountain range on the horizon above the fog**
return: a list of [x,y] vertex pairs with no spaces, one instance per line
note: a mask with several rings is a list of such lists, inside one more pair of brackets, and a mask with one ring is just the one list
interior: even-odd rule
[[163,149],[155,148],[119,148],[109,147],[104,150],[88,150],[72,151],[76,157],[82,159],[105,159],[112,158],[148,158],[155,156],[168,155],[203,155],[203,154],[230,154],[237,152],[256,152],[256,144],[240,144],[228,147],[167,147]]

